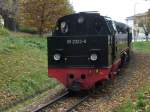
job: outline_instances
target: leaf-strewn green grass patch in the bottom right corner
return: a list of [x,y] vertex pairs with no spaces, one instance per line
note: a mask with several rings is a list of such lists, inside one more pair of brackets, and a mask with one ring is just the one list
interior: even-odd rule
[[150,112],[150,82],[147,82],[133,98],[128,99],[113,112]]

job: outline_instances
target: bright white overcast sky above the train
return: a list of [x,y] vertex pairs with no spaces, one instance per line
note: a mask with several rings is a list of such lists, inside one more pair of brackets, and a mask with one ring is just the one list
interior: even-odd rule
[[70,3],[76,12],[99,11],[101,15],[120,22],[150,8],[150,0],[70,0]]

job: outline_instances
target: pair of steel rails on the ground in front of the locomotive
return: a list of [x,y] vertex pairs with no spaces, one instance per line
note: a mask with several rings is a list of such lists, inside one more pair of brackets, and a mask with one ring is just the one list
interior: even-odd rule
[[[49,109],[51,106],[56,105],[60,100],[63,98],[67,98],[67,96],[71,95],[69,91],[64,92],[62,95],[56,97],[55,99],[51,100],[47,104],[41,105],[40,107],[33,110],[33,112],[44,112],[44,110]],[[72,112],[76,107],[78,107],[81,103],[87,100],[92,94],[83,95],[77,98],[77,101],[70,107],[67,107],[67,110],[64,112]]]

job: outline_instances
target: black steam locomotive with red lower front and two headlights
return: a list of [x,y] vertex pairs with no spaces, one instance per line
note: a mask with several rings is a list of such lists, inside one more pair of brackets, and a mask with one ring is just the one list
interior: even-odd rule
[[48,37],[48,74],[73,91],[89,90],[129,61],[130,28],[98,12],[58,19]]

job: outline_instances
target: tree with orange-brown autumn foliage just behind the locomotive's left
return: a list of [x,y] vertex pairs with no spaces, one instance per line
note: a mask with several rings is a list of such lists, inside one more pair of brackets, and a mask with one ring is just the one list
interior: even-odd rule
[[20,22],[37,28],[40,35],[54,27],[56,20],[73,12],[68,0],[22,0]]

